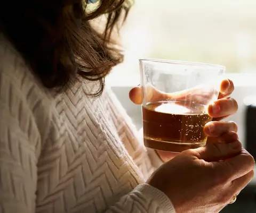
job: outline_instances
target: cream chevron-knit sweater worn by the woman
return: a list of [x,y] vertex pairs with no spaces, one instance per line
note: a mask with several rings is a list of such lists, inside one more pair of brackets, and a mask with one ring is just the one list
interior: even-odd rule
[[49,92],[3,35],[0,60],[1,213],[175,212],[144,183],[159,159],[110,89]]

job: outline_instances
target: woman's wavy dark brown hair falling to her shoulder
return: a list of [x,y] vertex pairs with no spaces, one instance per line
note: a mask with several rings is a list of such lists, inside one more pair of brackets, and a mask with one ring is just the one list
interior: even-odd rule
[[[123,61],[110,35],[124,21],[130,0],[3,0],[0,29],[14,44],[46,88],[61,90],[77,74],[98,81],[99,96],[105,76]],[[94,10],[88,10],[89,7]],[[106,14],[103,31],[92,20]],[[96,19],[97,20],[97,19]],[[96,26],[97,27],[97,26]]]

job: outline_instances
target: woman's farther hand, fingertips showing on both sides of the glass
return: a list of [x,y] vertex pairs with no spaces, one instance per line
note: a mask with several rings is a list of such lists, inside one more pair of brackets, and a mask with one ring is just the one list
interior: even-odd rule
[[[234,91],[233,81],[226,79],[221,82],[220,93],[218,100],[209,105],[208,113],[213,117],[213,121],[209,122],[204,127],[204,132],[208,135],[207,142],[217,141],[224,132],[233,131],[237,132],[237,125],[234,122],[219,122],[223,118],[233,115],[237,112],[238,105],[235,99],[228,96]],[[154,90],[151,92],[154,98],[165,96],[165,93]],[[141,87],[135,87],[131,89],[129,97],[134,104],[142,103],[142,89]],[[152,98],[152,97],[150,97]],[[201,97],[202,98],[202,97]],[[169,161],[178,154],[172,152],[165,152],[157,150],[159,157],[164,161]]]

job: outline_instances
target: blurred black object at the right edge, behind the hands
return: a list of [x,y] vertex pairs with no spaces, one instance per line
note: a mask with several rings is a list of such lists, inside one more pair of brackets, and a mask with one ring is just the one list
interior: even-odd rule
[[245,148],[256,160],[256,104],[245,109]]

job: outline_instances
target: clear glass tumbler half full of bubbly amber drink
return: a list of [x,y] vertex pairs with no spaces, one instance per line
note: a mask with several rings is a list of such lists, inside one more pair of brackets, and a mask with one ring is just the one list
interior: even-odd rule
[[205,146],[207,109],[224,72],[220,65],[140,59],[145,146],[171,152]]

